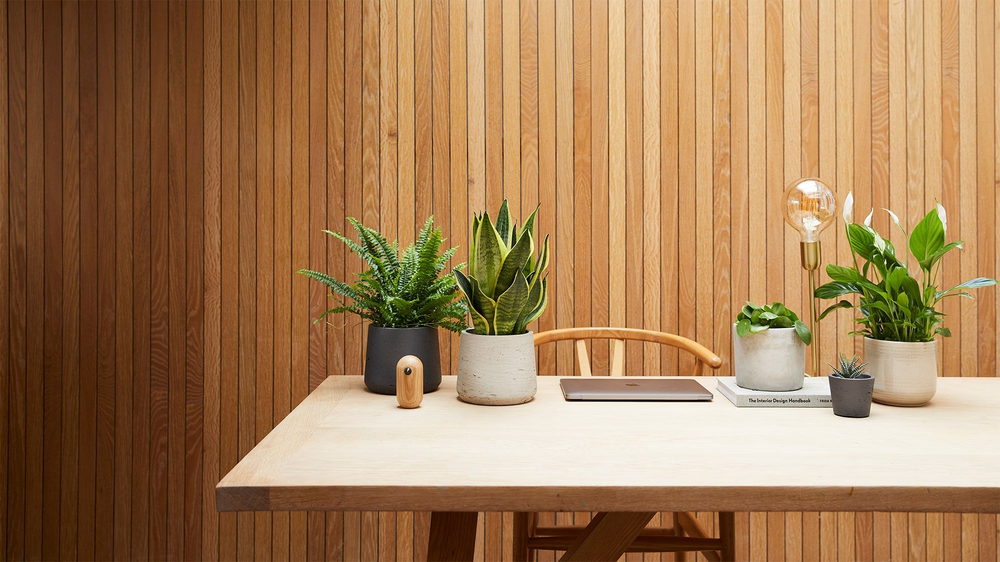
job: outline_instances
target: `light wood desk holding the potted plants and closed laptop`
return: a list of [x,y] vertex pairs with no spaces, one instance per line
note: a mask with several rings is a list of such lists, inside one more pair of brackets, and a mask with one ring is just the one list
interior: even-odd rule
[[216,501],[433,511],[431,559],[471,557],[476,511],[612,512],[592,525],[605,537],[657,511],[1000,512],[1000,378],[940,378],[930,404],[876,403],[866,419],[715,394],[566,402],[559,377],[541,376],[527,404],[479,406],[445,376],[403,409],[360,376],[331,376],[219,482]]

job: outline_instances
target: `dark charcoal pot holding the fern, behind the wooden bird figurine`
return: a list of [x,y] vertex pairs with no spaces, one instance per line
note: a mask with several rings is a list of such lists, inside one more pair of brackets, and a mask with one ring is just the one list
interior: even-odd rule
[[365,352],[365,386],[379,394],[396,393],[396,363],[416,355],[424,363],[424,392],[441,384],[441,348],[434,327],[368,326]]

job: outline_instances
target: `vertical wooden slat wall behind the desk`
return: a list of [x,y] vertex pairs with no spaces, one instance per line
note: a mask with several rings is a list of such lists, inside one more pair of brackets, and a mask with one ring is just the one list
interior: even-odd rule
[[[896,240],[878,208],[943,202],[967,241],[946,281],[997,276],[998,25],[989,0],[0,4],[0,553],[420,558],[425,513],[214,510],[220,474],[362,369],[362,326],[312,325],[324,294],[291,273],[358,271],[320,233],[346,217],[405,244],[434,213],[464,246],[472,212],[541,204],[539,329],[678,332],[724,371],[743,300],[803,307],[777,205],[800,176]],[[978,296],[945,306],[946,375],[996,373]],[[850,325],[825,324],[827,358]],[[574,368],[569,344],[540,361]],[[691,365],[628,348],[632,373]],[[509,558],[511,515],[480,521],[477,558]],[[998,556],[993,515],[737,521],[743,559]]]

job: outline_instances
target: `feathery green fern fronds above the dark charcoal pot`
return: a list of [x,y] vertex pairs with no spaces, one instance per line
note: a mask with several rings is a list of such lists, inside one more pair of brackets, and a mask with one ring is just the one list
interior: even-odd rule
[[[299,274],[325,284],[330,297],[340,302],[314,321],[327,314],[350,312],[379,327],[441,326],[452,331],[467,327],[465,303],[455,299],[458,293],[455,278],[441,275],[458,247],[439,254],[444,239],[441,230],[433,227],[433,216],[424,223],[417,241],[401,256],[397,242],[389,244],[385,237],[356,219],[348,221],[358,232],[360,244],[339,233],[323,232],[344,243],[368,264],[368,269],[358,274],[358,281],[352,284],[320,272],[299,270]],[[456,270],[464,267],[461,264]]]

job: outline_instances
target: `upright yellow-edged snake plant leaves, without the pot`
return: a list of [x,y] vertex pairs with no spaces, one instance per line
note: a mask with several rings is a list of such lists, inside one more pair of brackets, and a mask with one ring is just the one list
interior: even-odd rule
[[520,229],[510,217],[507,200],[500,206],[496,225],[487,213],[473,216],[469,243],[469,275],[455,270],[472,314],[473,331],[482,335],[524,333],[545,310],[549,265],[549,237],[535,257],[535,216]]

